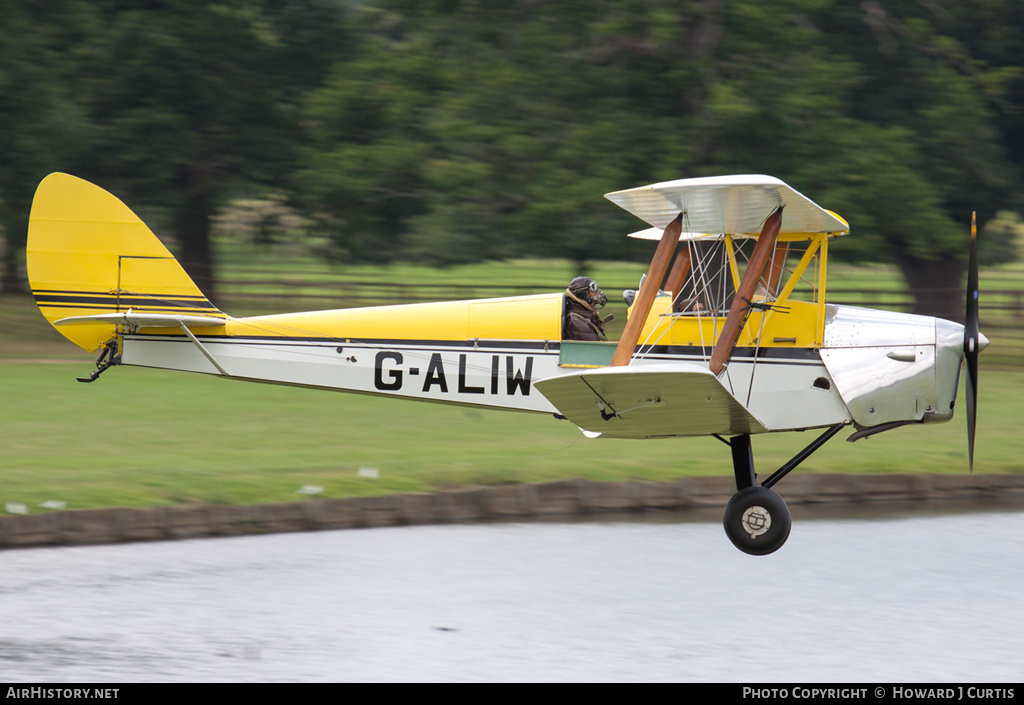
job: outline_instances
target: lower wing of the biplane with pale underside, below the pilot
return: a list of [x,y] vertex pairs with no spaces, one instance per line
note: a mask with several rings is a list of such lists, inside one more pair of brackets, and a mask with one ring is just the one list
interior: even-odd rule
[[707,367],[692,363],[586,370],[534,386],[572,423],[607,438],[768,430]]

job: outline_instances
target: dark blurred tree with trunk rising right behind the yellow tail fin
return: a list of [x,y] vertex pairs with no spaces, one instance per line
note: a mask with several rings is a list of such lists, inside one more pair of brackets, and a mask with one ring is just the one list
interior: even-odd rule
[[226,197],[294,168],[299,103],[344,55],[328,0],[98,0],[65,79],[94,129],[80,173],[156,208],[213,297],[210,223]]

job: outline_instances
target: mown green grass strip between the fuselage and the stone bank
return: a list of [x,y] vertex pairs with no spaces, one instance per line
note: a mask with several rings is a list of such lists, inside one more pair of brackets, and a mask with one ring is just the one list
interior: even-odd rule
[[[580,438],[546,415],[473,411],[135,368],[93,384],[82,363],[0,364],[7,403],[0,502],[36,511],[181,502],[254,503],[539,482],[731,473],[714,439]],[[1024,471],[1024,375],[984,374],[976,472]],[[771,471],[815,433],[760,436]],[[798,471],[966,472],[963,415],[856,444],[841,433]],[[360,475],[376,468],[377,478]]]

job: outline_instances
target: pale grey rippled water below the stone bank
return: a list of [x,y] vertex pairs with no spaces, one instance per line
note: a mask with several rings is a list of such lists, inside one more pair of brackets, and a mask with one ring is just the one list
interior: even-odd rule
[[0,680],[1020,681],[1024,512],[0,553]]

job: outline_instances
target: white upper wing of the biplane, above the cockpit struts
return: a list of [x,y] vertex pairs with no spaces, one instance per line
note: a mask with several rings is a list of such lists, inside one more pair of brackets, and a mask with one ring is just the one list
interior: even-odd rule
[[681,178],[616,191],[605,198],[656,229],[633,237],[660,238],[680,213],[685,213],[682,239],[706,233],[757,236],[765,217],[778,206],[785,206],[781,234],[850,231],[843,218],[774,176],[762,174]]

